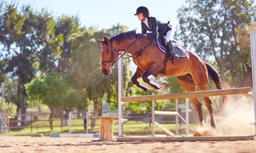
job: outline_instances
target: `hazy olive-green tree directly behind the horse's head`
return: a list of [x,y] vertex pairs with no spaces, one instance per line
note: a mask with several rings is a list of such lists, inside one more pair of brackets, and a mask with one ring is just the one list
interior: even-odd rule
[[[118,30],[114,30],[115,28]],[[126,27],[113,25],[110,31],[119,31],[120,29],[126,29]],[[85,93],[88,100],[93,101],[94,115],[101,115],[102,101],[106,100],[108,103],[115,103],[116,105],[116,101],[118,101],[118,70],[113,70],[113,74],[108,76],[102,74],[100,70],[101,54],[99,52],[101,46],[95,42],[95,38],[112,37],[113,34],[108,31],[97,31],[89,28],[74,33],[73,39],[70,39],[72,44],[76,46],[73,48],[70,59],[70,79],[76,89]],[[127,65],[129,64],[125,64],[125,66]],[[129,77],[130,75],[126,76]],[[116,107],[112,108],[115,109]]]

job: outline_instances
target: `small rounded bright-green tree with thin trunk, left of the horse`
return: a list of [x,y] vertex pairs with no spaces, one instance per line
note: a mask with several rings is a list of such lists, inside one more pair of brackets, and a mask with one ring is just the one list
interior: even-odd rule
[[84,104],[84,95],[77,92],[70,83],[67,75],[53,74],[44,79],[35,78],[30,83],[26,84],[26,91],[29,95],[29,100],[40,101],[51,110],[49,115],[49,123],[52,130],[52,118],[55,114],[65,118],[73,108],[77,105]]

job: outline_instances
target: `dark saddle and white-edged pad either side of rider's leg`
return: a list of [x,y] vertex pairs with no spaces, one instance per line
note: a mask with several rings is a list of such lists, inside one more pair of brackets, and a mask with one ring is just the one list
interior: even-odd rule
[[[173,49],[174,52],[179,56],[179,58],[185,58],[187,57],[187,53],[186,51],[181,48],[179,45],[179,43],[177,43],[176,41],[172,41],[173,42]],[[163,52],[163,53],[168,53],[168,46],[167,43],[165,41],[165,37],[163,35],[159,35],[158,39],[157,39],[157,45],[159,47],[159,49]]]

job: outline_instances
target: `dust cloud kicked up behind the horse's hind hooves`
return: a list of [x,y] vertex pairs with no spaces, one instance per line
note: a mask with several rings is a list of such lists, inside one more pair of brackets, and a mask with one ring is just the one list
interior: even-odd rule
[[218,116],[221,136],[250,136],[255,134],[253,96],[228,96],[225,107]]

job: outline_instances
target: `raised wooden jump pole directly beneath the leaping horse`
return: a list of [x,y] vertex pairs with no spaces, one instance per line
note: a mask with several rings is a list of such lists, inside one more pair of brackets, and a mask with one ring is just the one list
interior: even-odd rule
[[193,98],[193,97],[224,96],[229,94],[248,94],[248,92],[251,92],[251,90],[252,89],[250,87],[246,87],[246,88],[207,90],[207,91],[187,92],[187,93],[131,96],[131,97],[121,97],[121,101],[123,102],[152,101],[152,100],[166,100],[166,99],[186,99],[186,98]]

